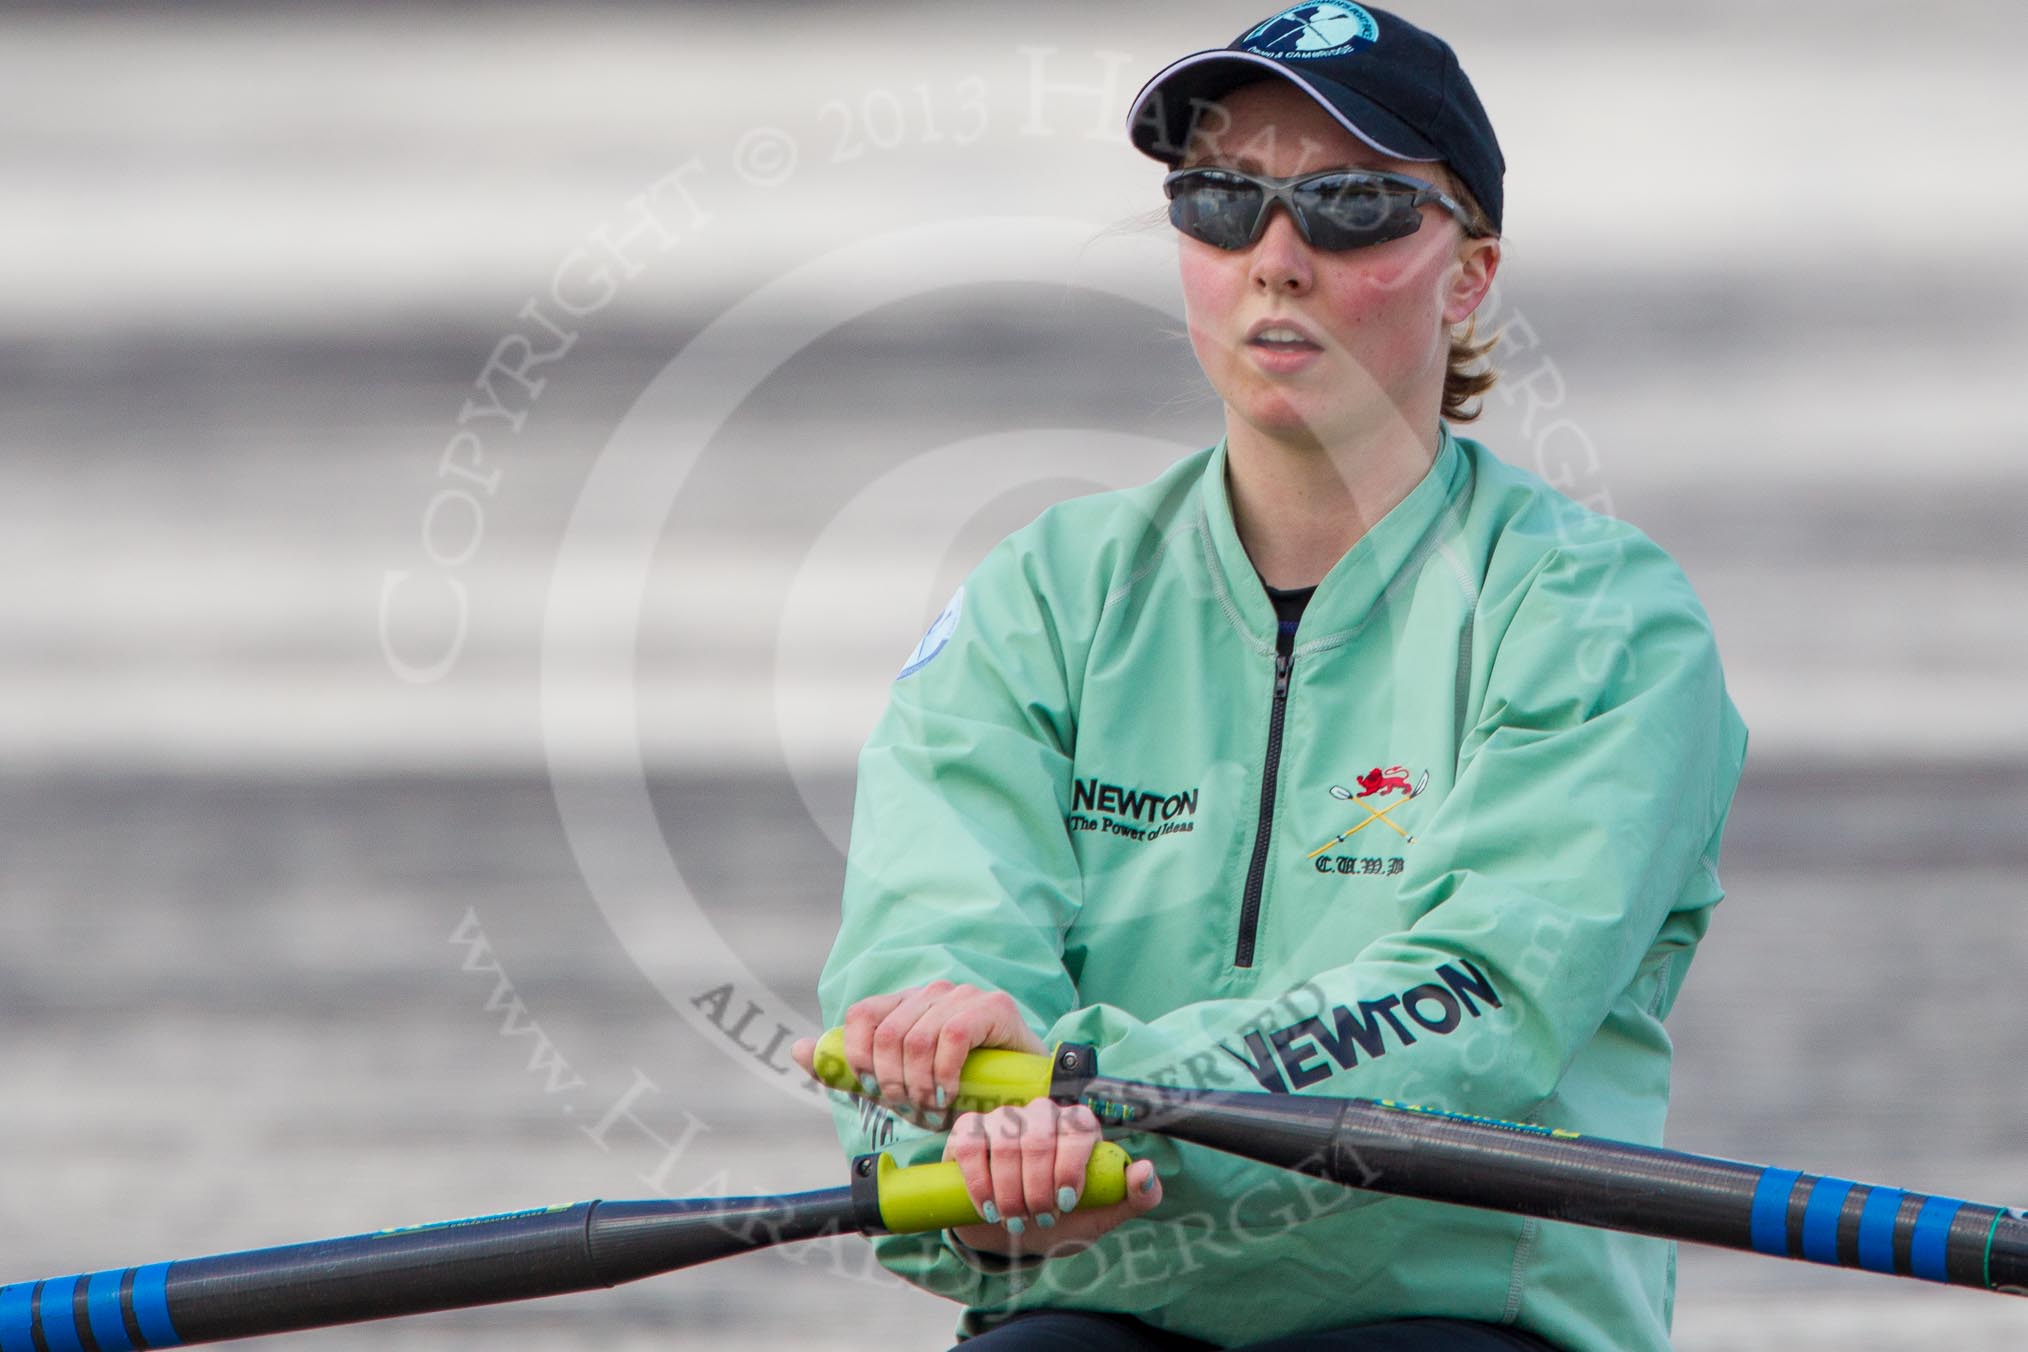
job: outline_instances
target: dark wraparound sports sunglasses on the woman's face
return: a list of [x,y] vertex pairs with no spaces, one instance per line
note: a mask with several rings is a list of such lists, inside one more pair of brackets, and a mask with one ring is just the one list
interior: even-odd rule
[[1190,239],[1243,249],[1268,229],[1268,209],[1288,207],[1296,229],[1316,249],[1363,249],[1422,229],[1422,207],[1448,211],[1466,235],[1472,217],[1454,197],[1407,174],[1328,168],[1296,178],[1261,178],[1237,168],[1178,168],[1162,178],[1168,219]]

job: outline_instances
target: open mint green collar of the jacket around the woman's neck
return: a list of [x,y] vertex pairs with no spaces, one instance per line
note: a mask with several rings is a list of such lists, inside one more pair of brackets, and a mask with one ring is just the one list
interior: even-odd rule
[[[1353,639],[1385,600],[1397,580],[1411,580],[1424,557],[1436,547],[1448,517],[1460,515],[1470,489],[1470,468],[1458,438],[1448,424],[1438,424],[1442,442],[1436,460],[1393,511],[1373,523],[1345,551],[1316,586],[1298,628],[1296,653],[1334,647]],[[1219,604],[1233,628],[1247,643],[1274,653],[1276,614],[1268,600],[1239,527],[1233,523],[1233,501],[1225,482],[1225,442],[1221,440],[1205,464],[1197,495],[1199,533],[1205,541],[1205,564],[1213,574]]]

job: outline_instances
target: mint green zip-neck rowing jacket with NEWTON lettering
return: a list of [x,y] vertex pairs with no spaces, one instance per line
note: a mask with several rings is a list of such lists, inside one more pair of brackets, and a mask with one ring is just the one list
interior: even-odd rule
[[[1213,448],[1046,511],[909,659],[860,758],[823,1016],[947,977],[1119,1078],[1659,1143],[1744,750],[1675,564],[1448,430],[1278,659]],[[1217,1344],[1450,1316],[1669,1346],[1661,1241],[1124,1143],[1164,1202],[1083,1255],[982,1271],[888,1236],[880,1261],[965,1332],[1048,1305]]]

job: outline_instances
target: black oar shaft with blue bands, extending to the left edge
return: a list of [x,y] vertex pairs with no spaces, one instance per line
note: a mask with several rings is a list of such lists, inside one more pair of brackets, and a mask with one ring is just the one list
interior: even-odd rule
[[610,1287],[860,1228],[850,1188],[578,1202],[0,1287],[0,1352],[174,1348]]

